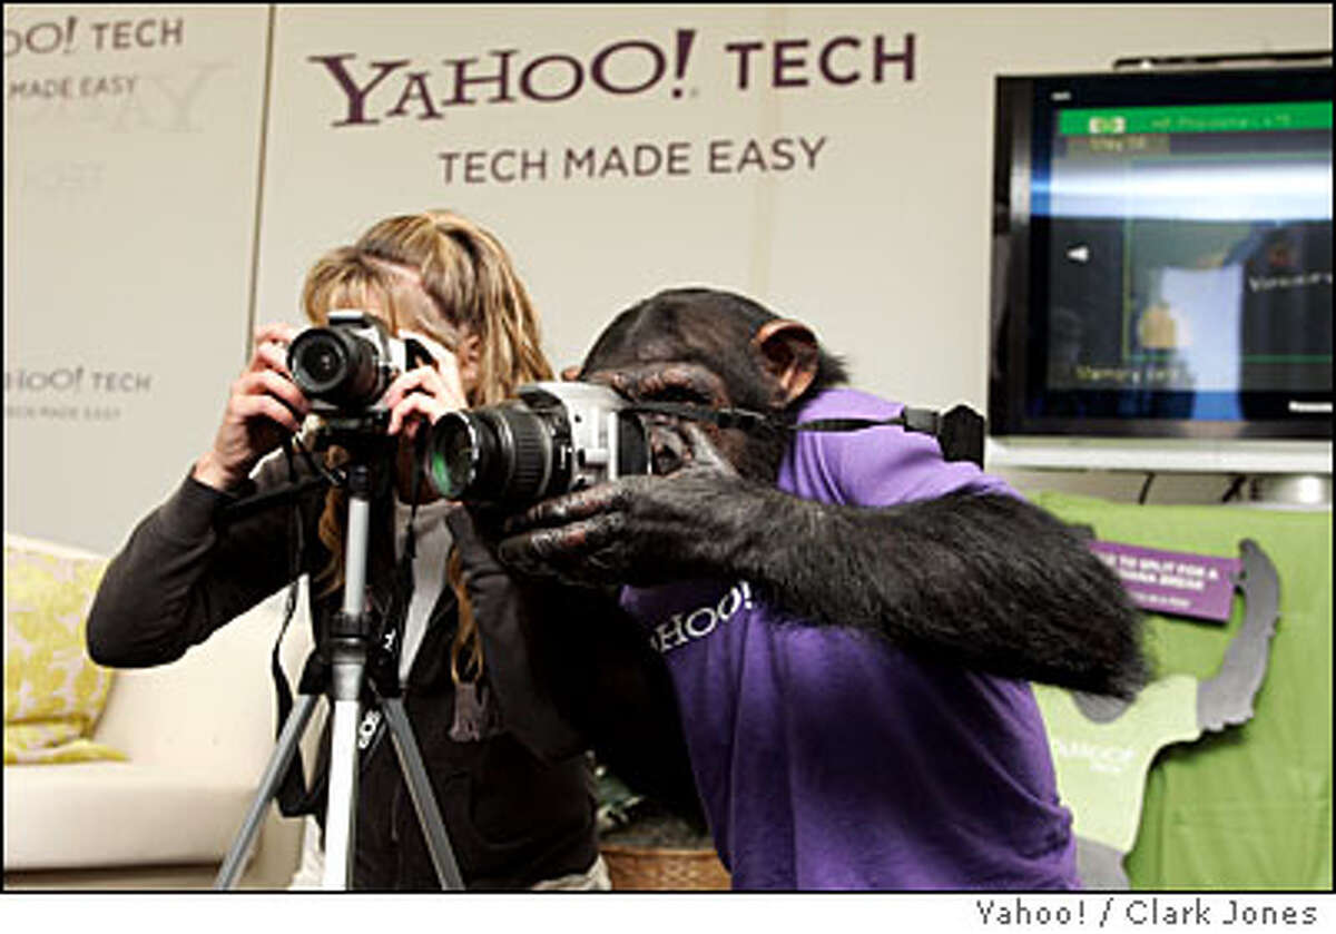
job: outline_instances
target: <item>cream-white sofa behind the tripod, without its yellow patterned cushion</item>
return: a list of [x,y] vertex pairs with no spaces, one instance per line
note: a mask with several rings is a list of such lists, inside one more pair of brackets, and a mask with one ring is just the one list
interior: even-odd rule
[[[7,889],[211,885],[274,751],[283,601],[271,596],[172,664],[115,673],[91,739],[127,762],[4,767]],[[309,632],[303,601],[282,652],[294,685]],[[301,832],[270,807],[242,886],[286,885]]]

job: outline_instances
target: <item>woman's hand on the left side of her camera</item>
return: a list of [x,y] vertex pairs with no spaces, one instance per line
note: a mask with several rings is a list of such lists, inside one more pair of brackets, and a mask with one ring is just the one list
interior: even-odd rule
[[287,371],[287,345],[298,330],[275,322],[255,331],[255,354],[232,382],[214,446],[195,462],[195,480],[219,490],[236,486],[283,437],[301,430],[311,406]]

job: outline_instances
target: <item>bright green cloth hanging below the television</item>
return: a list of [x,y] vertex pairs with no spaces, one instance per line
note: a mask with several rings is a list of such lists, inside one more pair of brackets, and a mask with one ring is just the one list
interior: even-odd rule
[[[1146,780],[1134,889],[1332,889],[1332,516],[1245,506],[1160,506],[1029,493],[1105,541],[1237,557],[1252,538],[1280,576],[1280,621],[1256,715],[1164,748]],[[1242,621],[1148,617],[1157,673],[1210,677]]]

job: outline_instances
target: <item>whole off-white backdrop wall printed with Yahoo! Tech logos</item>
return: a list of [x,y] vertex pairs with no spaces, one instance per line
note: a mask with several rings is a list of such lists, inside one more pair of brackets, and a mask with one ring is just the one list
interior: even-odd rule
[[[501,237],[558,367],[632,301],[708,283],[807,321],[864,387],[982,408],[994,75],[1328,45],[1331,8],[279,5],[269,27],[5,8],[8,528],[119,544],[207,444],[248,325],[297,319],[318,254],[425,207]],[[152,112],[159,72],[199,76],[188,131],[13,90],[124,73],[124,112]],[[104,421],[20,409],[104,402],[94,367],[150,381]]]

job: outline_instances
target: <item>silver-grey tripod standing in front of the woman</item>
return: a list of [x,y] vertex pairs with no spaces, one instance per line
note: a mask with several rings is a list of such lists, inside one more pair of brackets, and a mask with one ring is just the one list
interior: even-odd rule
[[[259,791],[242,828],[223,859],[222,869],[214,882],[215,889],[231,889],[240,873],[242,863],[259,831],[269,804],[278,794],[283,776],[297,754],[306,726],[315,711],[319,696],[309,680],[323,681],[323,688],[333,704],[333,727],[330,731],[330,782],[329,803],[325,811],[325,889],[349,889],[353,879],[353,857],[357,851],[357,730],[361,719],[362,687],[370,677],[374,703],[389,724],[394,751],[403,772],[417,812],[418,824],[426,838],[432,863],[442,889],[462,890],[460,869],[454,862],[450,839],[441,820],[436,794],[428,780],[426,767],[413,736],[413,727],[403,711],[399,697],[397,672],[393,664],[382,664],[371,652],[382,652],[383,647],[371,640],[371,620],[366,611],[366,555],[370,537],[371,514],[371,472],[365,464],[354,464],[347,469],[347,538],[345,542],[345,583],[343,605],[335,615],[325,643],[315,648],[307,663],[307,672],[319,659],[327,663],[325,676],[307,679],[303,675],[302,693],[289,714],[279,734],[274,754],[261,776]],[[369,659],[371,659],[369,661]]]

